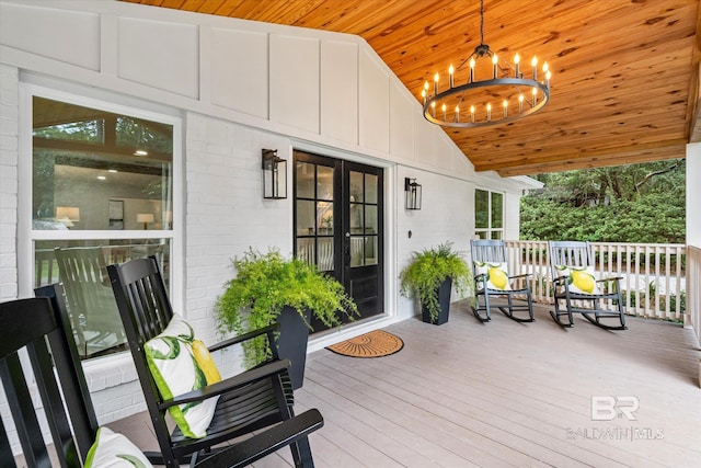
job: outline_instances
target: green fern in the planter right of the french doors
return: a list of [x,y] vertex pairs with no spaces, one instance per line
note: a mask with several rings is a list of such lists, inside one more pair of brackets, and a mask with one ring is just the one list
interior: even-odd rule
[[441,243],[432,249],[414,252],[412,262],[400,273],[401,294],[418,298],[432,320],[438,318],[438,287],[448,277],[452,279],[459,295],[474,295],[472,270],[452,244]]

